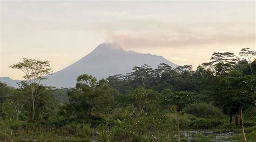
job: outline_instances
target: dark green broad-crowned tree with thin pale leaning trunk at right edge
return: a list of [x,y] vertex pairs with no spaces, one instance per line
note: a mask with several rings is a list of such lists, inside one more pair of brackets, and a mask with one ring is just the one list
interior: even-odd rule
[[219,106],[239,110],[242,141],[246,141],[242,110],[255,104],[255,83],[255,78],[252,76],[221,78],[213,96]]

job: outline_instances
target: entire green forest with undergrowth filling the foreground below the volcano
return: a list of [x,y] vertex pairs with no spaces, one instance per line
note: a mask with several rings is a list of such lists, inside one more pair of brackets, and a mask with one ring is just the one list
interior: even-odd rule
[[172,68],[134,66],[126,75],[77,77],[44,86],[49,61],[22,58],[15,89],[0,82],[0,141],[256,141],[256,52],[214,52]]

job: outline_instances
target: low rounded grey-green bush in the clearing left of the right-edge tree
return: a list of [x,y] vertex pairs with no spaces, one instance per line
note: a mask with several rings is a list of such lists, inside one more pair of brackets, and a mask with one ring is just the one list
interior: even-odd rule
[[221,109],[212,104],[197,103],[184,109],[185,113],[192,114],[201,118],[223,118],[224,114]]

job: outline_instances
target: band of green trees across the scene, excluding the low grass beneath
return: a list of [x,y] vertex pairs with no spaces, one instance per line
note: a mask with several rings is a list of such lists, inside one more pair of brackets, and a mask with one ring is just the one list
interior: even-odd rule
[[[173,68],[160,63],[156,69],[134,66],[126,75],[100,80],[84,74],[62,93],[41,84],[52,73],[49,61],[22,58],[10,66],[24,72],[19,88],[0,83],[0,119],[56,126],[86,123],[99,130],[93,137],[104,141],[162,141],[173,138],[167,114],[175,113],[180,141],[183,110],[203,102],[221,108],[230,123],[235,117],[246,141],[242,118],[256,103],[256,52],[244,48],[239,55],[214,52],[210,62],[196,70],[192,65]],[[63,94],[65,101],[56,94]]]

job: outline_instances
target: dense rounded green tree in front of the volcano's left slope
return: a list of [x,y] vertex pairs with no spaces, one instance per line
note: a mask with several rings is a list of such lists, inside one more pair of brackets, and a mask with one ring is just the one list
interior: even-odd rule
[[105,79],[99,80],[89,75],[80,75],[76,87],[68,91],[70,97],[66,110],[78,119],[90,120],[93,117],[106,121],[106,131],[109,131],[109,121],[114,108],[114,94]]

